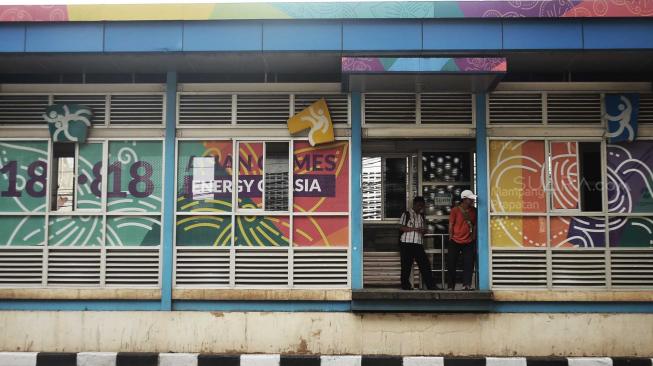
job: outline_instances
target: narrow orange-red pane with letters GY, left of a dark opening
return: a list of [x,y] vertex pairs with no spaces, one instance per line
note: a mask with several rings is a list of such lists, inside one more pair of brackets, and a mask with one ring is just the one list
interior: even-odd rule
[[238,208],[263,208],[263,143],[238,144]]

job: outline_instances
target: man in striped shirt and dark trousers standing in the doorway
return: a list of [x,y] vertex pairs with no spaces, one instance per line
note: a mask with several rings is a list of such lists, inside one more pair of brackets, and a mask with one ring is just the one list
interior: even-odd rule
[[412,290],[409,277],[413,261],[417,261],[419,271],[429,290],[435,290],[435,282],[431,274],[431,263],[424,252],[424,198],[417,196],[413,199],[413,208],[404,212],[399,220],[402,232],[399,243],[401,255],[401,288]]

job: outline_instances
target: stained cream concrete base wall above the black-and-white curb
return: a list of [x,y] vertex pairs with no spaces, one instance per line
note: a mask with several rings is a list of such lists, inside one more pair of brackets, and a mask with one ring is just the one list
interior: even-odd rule
[[2,311],[0,351],[653,355],[653,314]]

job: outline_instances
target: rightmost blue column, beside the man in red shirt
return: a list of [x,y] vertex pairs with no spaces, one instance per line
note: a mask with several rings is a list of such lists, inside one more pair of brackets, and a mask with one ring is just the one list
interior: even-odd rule
[[488,216],[490,195],[488,192],[488,156],[486,138],[486,94],[476,95],[476,194],[478,195],[478,283],[481,291],[490,289],[490,250]]

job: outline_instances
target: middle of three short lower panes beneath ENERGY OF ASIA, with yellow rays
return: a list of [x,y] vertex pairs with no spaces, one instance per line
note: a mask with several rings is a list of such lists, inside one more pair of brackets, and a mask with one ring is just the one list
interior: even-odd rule
[[289,238],[290,218],[287,216],[236,217],[236,246],[286,247]]

